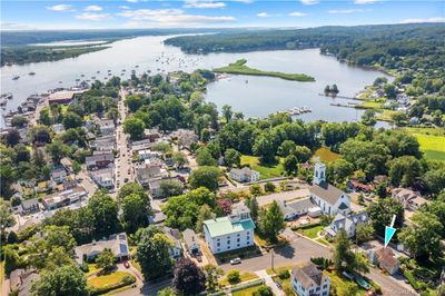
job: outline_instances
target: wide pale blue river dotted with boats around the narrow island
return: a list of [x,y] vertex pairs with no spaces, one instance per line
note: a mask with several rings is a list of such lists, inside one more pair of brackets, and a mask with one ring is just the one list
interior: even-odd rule
[[[296,72],[313,76],[316,82],[288,81],[271,77],[230,76],[208,85],[206,98],[219,108],[231,105],[247,117],[264,117],[293,107],[309,107],[312,112],[301,115],[313,121],[356,121],[363,110],[336,107],[332,103],[354,103],[345,99],[322,97],[326,85],[336,83],[342,96],[355,96],[375,78],[385,76],[375,70],[352,67],[333,57],[323,56],[318,49],[254,51],[244,53],[186,55],[179,48],[165,46],[166,36],[138,37],[110,45],[110,48],[86,53],[78,58],[52,62],[28,63],[1,68],[1,93],[12,92],[13,100],[7,110],[16,109],[29,95],[46,92],[57,87],[75,86],[77,79],[105,80],[108,72],[128,78],[131,70],[138,75],[192,71],[221,67],[237,59],[247,59],[247,65],[260,70]],[[109,71],[110,70],[110,71]],[[125,71],[122,71],[125,70]],[[29,76],[29,72],[36,72]],[[14,76],[20,79],[12,80]],[[95,78],[92,78],[95,77]],[[378,126],[387,126],[379,124]]]

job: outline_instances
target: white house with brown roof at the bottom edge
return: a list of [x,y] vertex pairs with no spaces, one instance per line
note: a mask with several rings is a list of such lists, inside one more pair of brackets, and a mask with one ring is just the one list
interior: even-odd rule
[[330,279],[315,264],[308,263],[304,267],[294,267],[291,285],[299,296],[328,296]]

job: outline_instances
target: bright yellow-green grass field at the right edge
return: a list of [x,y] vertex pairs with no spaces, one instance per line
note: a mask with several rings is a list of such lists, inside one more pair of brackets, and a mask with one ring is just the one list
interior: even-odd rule
[[404,128],[417,138],[421,150],[429,160],[445,161],[445,130],[439,128]]

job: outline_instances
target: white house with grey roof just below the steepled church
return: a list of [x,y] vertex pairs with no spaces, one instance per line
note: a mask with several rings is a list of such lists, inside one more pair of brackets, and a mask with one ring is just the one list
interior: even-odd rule
[[348,237],[355,236],[355,229],[360,223],[368,223],[368,214],[366,211],[354,213],[347,216],[338,213],[334,220],[324,230],[327,236],[334,237],[340,229],[345,229]]

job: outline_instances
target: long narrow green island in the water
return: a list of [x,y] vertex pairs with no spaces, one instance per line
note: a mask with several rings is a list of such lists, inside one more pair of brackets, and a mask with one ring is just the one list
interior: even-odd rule
[[294,80],[300,82],[314,82],[315,78],[304,73],[281,73],[275,71],[261,71],[246,66],[247,60],[240,59],[229,66],[214,69],[214,72],[219,73],[234,73],[234,75],[253,75],[253,76],[270,76],[286,80]]

